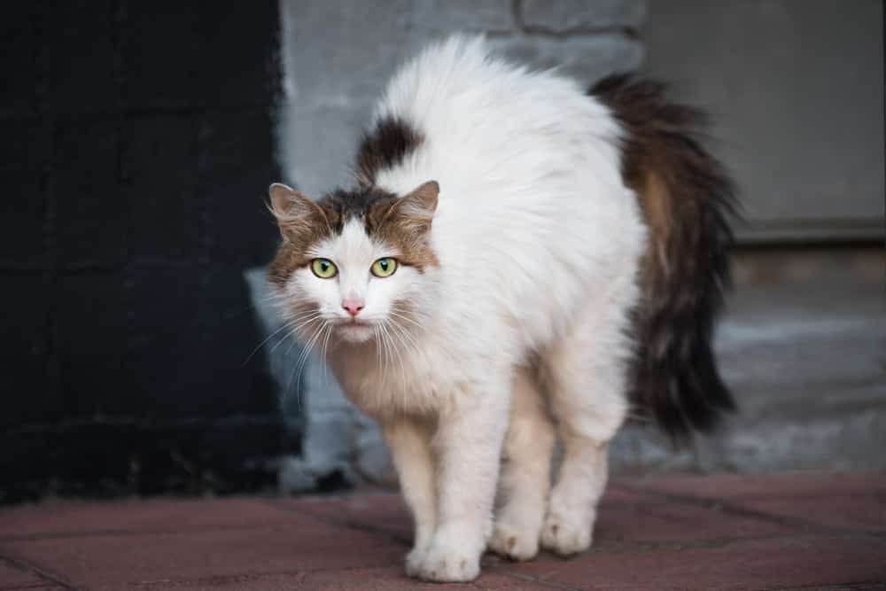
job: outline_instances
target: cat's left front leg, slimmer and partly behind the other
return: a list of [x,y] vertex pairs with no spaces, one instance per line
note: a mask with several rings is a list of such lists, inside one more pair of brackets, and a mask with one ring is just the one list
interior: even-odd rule
[[400,492],[412,512],[415,541],[406,556],[406,572],[418,576],[437,525],[437,486],[431,457],[431,429],[421,420],[399,418],[381,425],[394,468],[400,478]]

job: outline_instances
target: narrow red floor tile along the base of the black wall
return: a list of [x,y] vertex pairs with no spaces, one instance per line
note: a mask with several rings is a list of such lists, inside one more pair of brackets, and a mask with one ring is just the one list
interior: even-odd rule
[[0,509],[0,540],[69,533],[181,532],[276,525],[286,516],[261,499],[49,502]]

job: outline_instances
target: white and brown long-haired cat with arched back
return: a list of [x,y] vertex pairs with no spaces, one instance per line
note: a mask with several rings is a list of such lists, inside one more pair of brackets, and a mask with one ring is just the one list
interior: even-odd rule
[[711,353],[734,190],[702,128],[662,84],[585,91],[455,35],[393,76],[352,188],[271,185],[268,280],[380,426],[409,576],[585,550],[629,409],[685,439],[734,408]]

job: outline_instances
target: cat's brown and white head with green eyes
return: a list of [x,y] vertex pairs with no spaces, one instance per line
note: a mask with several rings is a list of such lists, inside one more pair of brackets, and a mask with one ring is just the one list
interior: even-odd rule
[[416,323],[439,266],[429,239],[438,193],[431,181],[400,198],[372,187],[315,202],[271,185],[283,243],[268,279],[302,338],[361,343]]

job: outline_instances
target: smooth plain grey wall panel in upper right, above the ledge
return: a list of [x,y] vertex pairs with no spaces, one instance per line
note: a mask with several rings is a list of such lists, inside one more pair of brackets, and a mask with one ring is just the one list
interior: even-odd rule
[[650,4],[643,70],[714,115],[744,241],[884,237],[882,6]]

